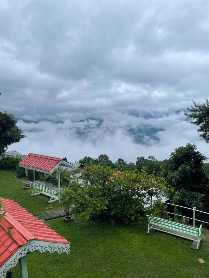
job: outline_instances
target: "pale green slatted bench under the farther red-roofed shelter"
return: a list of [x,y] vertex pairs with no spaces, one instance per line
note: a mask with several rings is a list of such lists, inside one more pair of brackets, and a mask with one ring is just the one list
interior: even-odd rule
[[30,183],[33,187],[33,191],[31,193],[31,196],[35,196],[38,194],[43,194],[48,197],[50,197],[50,201],[48,203],[54,202],[55,200],[58,200],[58,188],[51,189],[50,187],[46,187],[41,185],[40,183]]

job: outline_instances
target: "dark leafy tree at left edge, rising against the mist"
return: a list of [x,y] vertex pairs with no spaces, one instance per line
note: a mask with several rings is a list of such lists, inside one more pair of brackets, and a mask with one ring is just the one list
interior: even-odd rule
[[8,114],[7,111],[0,112],[0,154],[5,152],[8,145],[20,142],[25,137],[16,123],[12,114]]

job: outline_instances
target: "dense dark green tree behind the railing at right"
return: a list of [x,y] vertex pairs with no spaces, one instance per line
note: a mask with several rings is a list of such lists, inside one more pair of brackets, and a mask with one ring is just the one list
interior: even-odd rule
[[203,168],[206,159],[195,144],[187,144],[175,149],[170,158],[163,161],[163,176],[175,188],[170,193],[175,204],[209,211],[208,177]]

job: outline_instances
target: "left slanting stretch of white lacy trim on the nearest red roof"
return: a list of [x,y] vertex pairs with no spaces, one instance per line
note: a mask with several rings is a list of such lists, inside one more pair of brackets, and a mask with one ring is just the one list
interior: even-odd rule
[[10,259],[8,259],[8,261],[2,265],[2,267],[0,268],[0,277],[5,277],[7,275],[7,271],[14,267],[17,263],[18,260],[22,257],[24,257],[28,252],[28,243],[24,244],[23,246],[21,246],[14,255],[12,255],[12,257]]

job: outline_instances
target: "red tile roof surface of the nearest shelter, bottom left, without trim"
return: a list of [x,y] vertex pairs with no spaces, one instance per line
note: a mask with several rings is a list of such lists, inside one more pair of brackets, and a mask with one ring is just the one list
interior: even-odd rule
[[[46,226],[15,201],[0,198],[3,209],[7,212],[0,222],[0,267],[30,239],[40,241],[70,244],[65,237],[60,236]],[[12,227],[9,237],[7,227]]]

